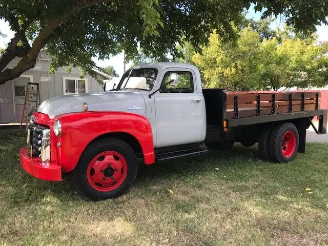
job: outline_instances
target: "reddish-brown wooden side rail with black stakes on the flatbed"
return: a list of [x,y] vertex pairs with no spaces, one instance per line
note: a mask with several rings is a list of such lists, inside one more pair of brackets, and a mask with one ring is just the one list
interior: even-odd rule
[[319,92],[227,93],[227,118],[291,113],[319,109]]

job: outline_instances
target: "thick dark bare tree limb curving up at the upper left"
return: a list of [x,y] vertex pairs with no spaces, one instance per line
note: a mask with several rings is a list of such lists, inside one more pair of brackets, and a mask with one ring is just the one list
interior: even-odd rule
[[[24,73],[25,71],[33,68],[35,66],[38,53],[42,48],[45,47],[50,35],[55,31],[57,27],[63,24],[72,14],[77,13],[82,9],[89,8],[97,3],[113,2],[113,1],[114,0],[78,0],[75,2],[74,5],[69,7],[61,15],[57,15],[55,18],[50,19],[46,23],[46,25],[39,31],[39,35],[35,38],[32,47],[29,49],[28,53],[26,53],[23,56],[23,58],[19,60],[16,67],[12,69],[7,68],[4,71],[2,71],[4,69],[2,68],[3,67],[2,59],[4,59],[3,58],[4,55],[0,58],[0,71],[2,71],[0,73],[0,85],[6,83],[6,81],[8,80],[18,77],[20,74]],[[6,59],[4,59],[4,63],[14,58],[14,57],[12,58],[13,56],[12,52],[15,51],[15,47],[19,41],[19,39],[17,40],[17,38],[18,37],[13,38],[11,42],[11,48],[14,48],[13,51],[10,49],[8,50],[9,46],[6,49],[6,52],[8,50],[9,52],[11,51],[11,53],[8,53],[6,55],[5,57]],[[8,65],[8,63],[6,64],[6,66]]]

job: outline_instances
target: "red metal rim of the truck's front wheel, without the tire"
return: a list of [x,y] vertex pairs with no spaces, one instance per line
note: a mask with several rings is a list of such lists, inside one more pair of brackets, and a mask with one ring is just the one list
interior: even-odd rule
[[87,180],[93,189],[108,192],[121,185],[127,172],[127,161],[121,154],[116,151],[104,151],[90,161]]

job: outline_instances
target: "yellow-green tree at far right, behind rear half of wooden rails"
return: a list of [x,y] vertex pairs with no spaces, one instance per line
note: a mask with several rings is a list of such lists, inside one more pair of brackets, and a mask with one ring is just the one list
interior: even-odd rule
[[324,77],[327,68],[327,44],[318,44],[313,37],[300,39],[283,37],[264,40],[259,71],[262,89],[278,90],[291,87],[322,87],[328,83]]

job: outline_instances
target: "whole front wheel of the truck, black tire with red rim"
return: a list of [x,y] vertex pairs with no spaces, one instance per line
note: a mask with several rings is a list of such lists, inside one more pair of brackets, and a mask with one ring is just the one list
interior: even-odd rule
[[120,139],[106,138],[86,148],[73,170],[73,182],[81,196],[104,200],[125,194],[137,171],[133,149]]

